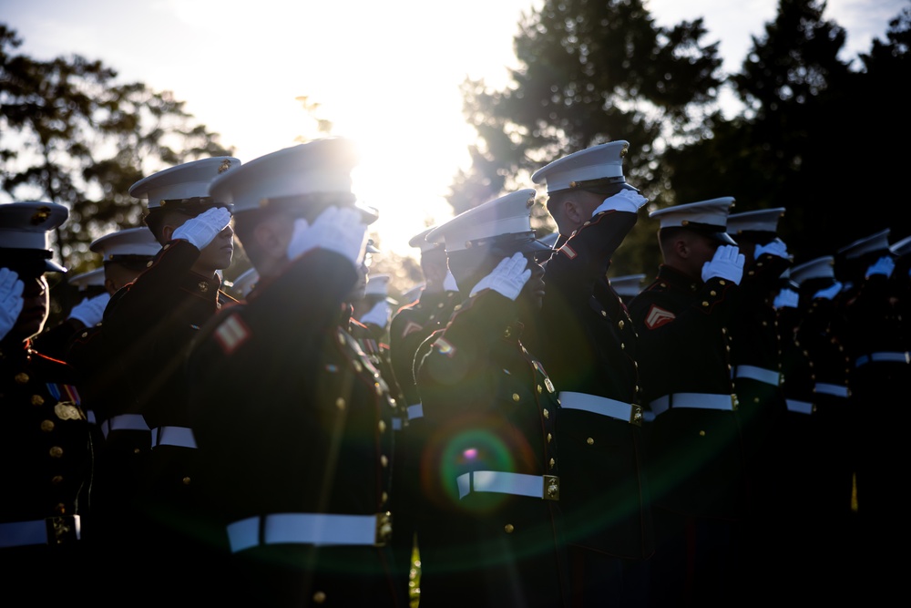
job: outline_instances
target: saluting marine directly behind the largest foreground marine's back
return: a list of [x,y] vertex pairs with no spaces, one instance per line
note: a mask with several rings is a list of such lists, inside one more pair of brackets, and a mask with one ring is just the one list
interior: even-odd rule
[[[110,581],[135,593],[136,578],[155,577],[159,593],[210,600],[197,570],[207,550],[197,525],[197,447],[189,424],[183,351],[221,307],[218,271],[233,256],[230,206],[208,184],[240,160],[193,160],[138,180],[130,195],[147,201],[147,230],[159,253],[135,281],[111,297],[101,324],[99,368],[112,378],[96,409],[105,435],[93,487],[97,541]],[[124,531],[130,530],[130,534]],[[167,556],[167,557],[164,557]],[[116,601],[122,601],[112,593]],[[138,602],[158,603],[154,594]]]

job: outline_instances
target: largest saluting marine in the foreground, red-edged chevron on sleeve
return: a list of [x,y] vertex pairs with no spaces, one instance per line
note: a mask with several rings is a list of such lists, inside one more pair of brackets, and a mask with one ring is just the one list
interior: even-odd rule
[[210,186],[233,203],[260,274],[188,361],[204,505],[234,603],[407,602],[388,545],[394,398],[339,323],[376,219],[351,190],[356,161],[352,141],[316,139]]

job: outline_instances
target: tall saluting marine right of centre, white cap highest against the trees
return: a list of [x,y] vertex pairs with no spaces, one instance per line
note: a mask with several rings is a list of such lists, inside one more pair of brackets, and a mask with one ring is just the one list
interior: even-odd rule
[[547,293],[528,348],[558,386],[557,438],[574,606],[645,605],[654,551],[642,438],[636,328],[607,278],[648,199],[623,177],[627,141],[537,170],[565,241],[546,263]]

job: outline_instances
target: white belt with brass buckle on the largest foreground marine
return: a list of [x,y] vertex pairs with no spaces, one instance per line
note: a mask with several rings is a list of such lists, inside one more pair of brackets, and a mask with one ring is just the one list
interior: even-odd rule
[[234,521],[227,531],[230,551],[236,553],[280,543],[376,546],[388,539],[392,523],[389,513],[273,513]]

